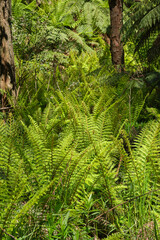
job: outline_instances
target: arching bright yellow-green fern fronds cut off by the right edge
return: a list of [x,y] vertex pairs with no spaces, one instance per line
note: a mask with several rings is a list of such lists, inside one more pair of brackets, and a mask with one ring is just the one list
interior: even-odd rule
[[149,122],[136,138],[133,148],[131,148],[127,137],[124,135],[128,148],[128,153],[120,150],[127,173],[124,181],[131,185],[136,183],[135,195],[159,188],[157,182],[159,179],[159,129],[158,121]]

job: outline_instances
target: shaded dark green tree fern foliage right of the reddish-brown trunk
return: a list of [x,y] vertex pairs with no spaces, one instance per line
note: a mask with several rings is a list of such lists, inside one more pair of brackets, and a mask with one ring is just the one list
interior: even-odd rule
[[[131,11],[132,9],[132,11]],[[160,4],[159,1],[140,1],[132,6],[129,11],[130,18],[124,25],[124,38],[133,36],[135,51],[138,51],[142,65],[154,62],[154,67],[159,66],[159,30],[160,30]],[[157,64],[155,64],[155,60]]]

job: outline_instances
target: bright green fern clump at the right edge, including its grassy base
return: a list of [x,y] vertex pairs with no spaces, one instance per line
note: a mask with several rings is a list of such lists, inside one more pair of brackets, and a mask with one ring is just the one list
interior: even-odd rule
[[[127,199],[131,199],[128,209],[133,209],[129,212],[129,226],[134,224],[136,219],[139,219],[140,222],[137,226],[139,229],[143,229],[144,225],[150,222],[157,215],[157,212],[159,213],[157,202],[159,195],[159,183],[157,182],[159,179],[157,175],[159,174],[157,166],[159,126],[159,121],[149,122],[135,140],[133,148],[124,135],[128,153],[124,149],[120,150],[126,172],[123,178],[124,184],[128,188],[125,194],[126,197],[128,196]],[[157,166],[156,170],[155,166]]]

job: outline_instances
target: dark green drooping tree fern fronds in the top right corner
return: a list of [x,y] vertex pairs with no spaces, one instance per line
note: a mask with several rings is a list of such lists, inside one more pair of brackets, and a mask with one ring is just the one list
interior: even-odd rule
[[147,54],[153,56],[151,51],[160,30],[160,4],[158,1],[144,2],[144,4],[140,2],[133,8],[133,12],[124,26],[126,38],[133,36],[133,32],[134,36],[136,34],[135,51],[140,51],[140,58],[145,59]]

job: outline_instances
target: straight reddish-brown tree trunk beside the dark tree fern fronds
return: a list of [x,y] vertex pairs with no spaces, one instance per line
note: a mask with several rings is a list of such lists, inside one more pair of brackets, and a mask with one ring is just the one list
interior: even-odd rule
[[123,0],[109,0],[111,21],[111,55],[112,63],[121,72],[124,67],[124,51],[121,42],[121,29],[123,26]]

